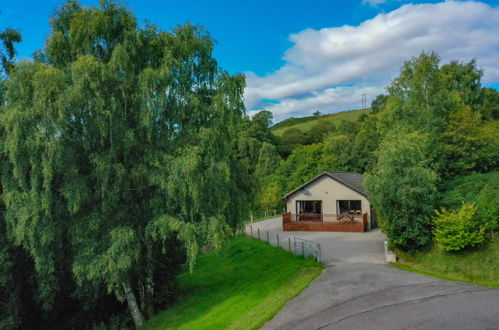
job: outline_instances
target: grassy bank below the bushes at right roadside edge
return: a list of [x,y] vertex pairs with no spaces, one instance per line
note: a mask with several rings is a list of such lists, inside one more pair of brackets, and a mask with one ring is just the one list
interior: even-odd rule
[[401,262],[393,266],[451,281],[499,287],[499,234],[481,249],[449,253],[439,247],[414,256],[400,254]]

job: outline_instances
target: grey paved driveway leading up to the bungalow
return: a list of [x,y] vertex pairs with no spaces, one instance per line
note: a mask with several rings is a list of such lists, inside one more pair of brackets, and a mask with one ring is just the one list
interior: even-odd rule
[[[441,280],[384,264],[384,236],[283,232],[281,219],[251,224],[276,245],[321,244],[326,269],[263,329],[497,329],[499,289]],[[250,227],[247,227],[249,233]]]

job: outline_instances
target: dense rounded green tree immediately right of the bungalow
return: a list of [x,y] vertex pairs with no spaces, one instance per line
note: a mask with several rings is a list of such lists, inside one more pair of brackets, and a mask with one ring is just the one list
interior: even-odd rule
[[437,175],[428,168],[428,137],[398,131],[385,137],[373,174],[366,178],[374,205],[390,242],[415,251],[431,241],[431,215]]

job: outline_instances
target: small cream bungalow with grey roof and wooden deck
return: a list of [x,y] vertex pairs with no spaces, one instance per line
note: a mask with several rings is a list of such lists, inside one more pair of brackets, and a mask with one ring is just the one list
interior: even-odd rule
[[358,173],[324,172],[289,192],[285,231],[364,232],[376,217]]

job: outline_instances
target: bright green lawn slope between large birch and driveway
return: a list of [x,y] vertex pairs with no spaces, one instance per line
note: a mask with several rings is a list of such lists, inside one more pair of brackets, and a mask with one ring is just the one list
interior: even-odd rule
[[239,236],[179,276],[185,295],[145,329],[258,329],[322,271],[311,259]]

